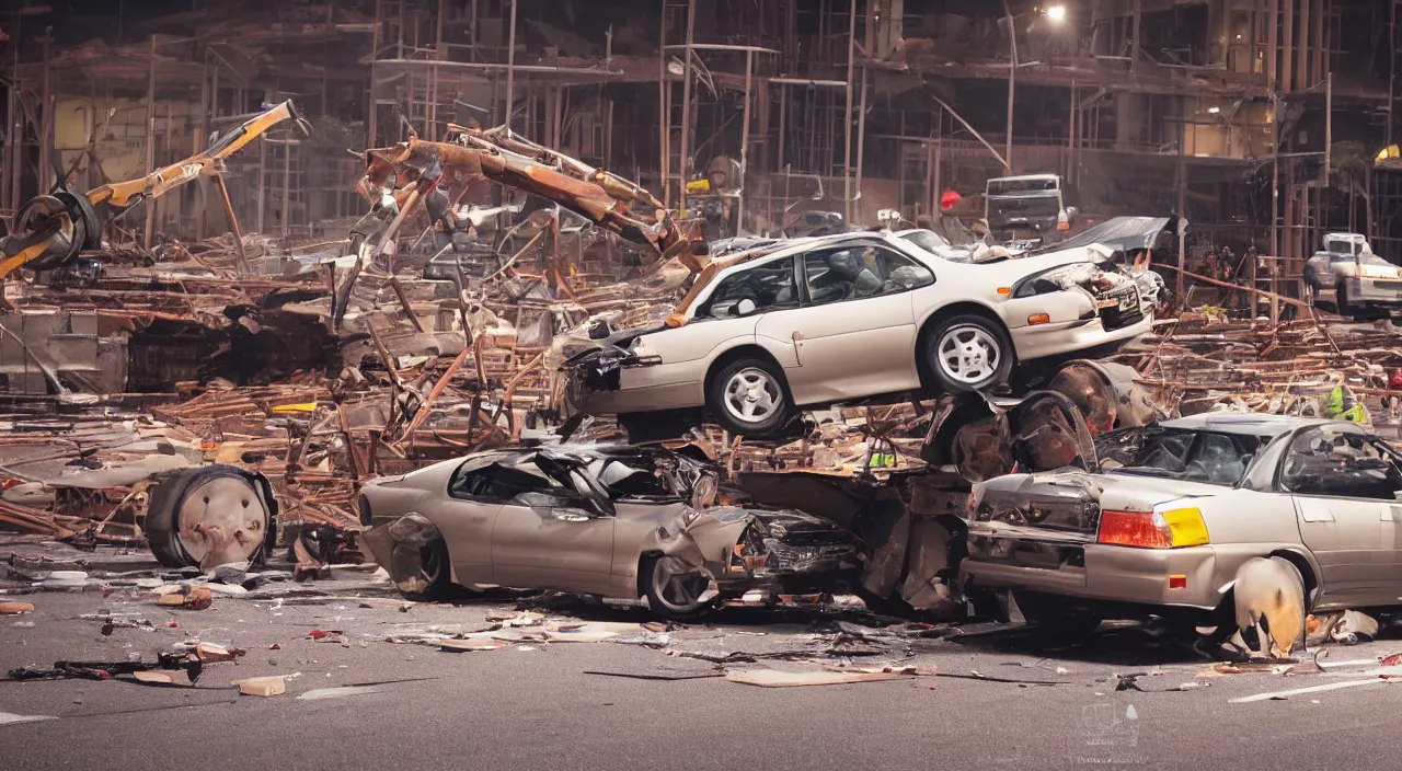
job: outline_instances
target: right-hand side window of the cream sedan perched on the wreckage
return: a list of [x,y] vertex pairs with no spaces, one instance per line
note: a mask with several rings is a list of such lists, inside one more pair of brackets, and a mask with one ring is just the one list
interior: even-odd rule
[[896,294],[935,282],[930,268],[869,244],[803,255],[803,280],[813,304]]

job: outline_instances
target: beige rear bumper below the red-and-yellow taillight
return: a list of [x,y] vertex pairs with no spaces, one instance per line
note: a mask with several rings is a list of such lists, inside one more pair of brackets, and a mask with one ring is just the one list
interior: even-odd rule
[[[1207,611],[1221,603],[1218,589],[1225,582],[1220,580],[1217,550],[1210,545],[1147,550],[1085,544],[1082,554],[1081,565],[1054,566],[1018,565],[970,555],[959,571],[969,586],[1025,589],[1105,603]],[[1169,589],[1171,575],[1186,576],[1186,587]]]

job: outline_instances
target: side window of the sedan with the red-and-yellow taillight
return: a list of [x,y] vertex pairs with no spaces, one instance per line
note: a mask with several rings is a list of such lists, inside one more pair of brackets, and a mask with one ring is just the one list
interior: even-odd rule
[[1396,456],[1367,435],[1319,426],[1291,440],[1280,486],[1295,495],[1396,502],[1402,500],[1402,468]]

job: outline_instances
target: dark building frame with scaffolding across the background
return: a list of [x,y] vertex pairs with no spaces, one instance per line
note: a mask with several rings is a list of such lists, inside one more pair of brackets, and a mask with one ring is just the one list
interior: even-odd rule
[[[672,207],[723,171],[742,231],[813,210],[914,221],[949,188],[979,216],[988,178],[1050,172],[1087,221],[1183,213],[1195,243],[1255,245],[1286,276],[1330,230],[1402,258],[1402,174],[1375,161],[1395,133],[1387,0],[77,6],[0,17],[7,212],[60,177],[177,161],[290,98],[311,135],[230,161],[245,231],[341,231],[365,206],[350,147],[509,123]],[[223,233],[207,188],[115,227],[146,247]]]

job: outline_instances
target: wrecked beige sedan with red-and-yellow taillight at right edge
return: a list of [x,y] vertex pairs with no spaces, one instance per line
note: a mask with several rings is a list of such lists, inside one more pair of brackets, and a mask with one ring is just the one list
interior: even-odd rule
[[1029,618],[1204,621],[1244,562],[1284,557],[1315,610],[1402,604],[1402,458],[1357,423],[1206,415],[1096,446],[1120,447],[1099,472],[974,486],[966,590]]

